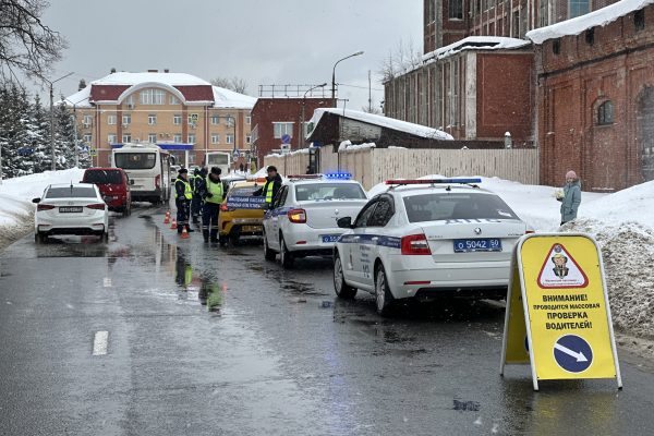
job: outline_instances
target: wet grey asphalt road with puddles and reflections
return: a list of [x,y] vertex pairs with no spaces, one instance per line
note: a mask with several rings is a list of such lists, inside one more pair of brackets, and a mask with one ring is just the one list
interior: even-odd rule
[[[498,375],[504,311],[441,302],[379,318],[337,301],[330,262],[205,246],[162,209],[0,254],[2,435],[651,435],[654,372]],[[108,332],[106,355],[94,337]]]

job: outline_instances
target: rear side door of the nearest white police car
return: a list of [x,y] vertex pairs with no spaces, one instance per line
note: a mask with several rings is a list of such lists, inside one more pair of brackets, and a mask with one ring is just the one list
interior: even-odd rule
[[366,226],[361,234],[360,259],[362,282],[367,287],[375,286],[375,261],[382,258],[384,262],[387,257],[384,256],[385,251],[389,249],[391,238],[385,229],[390,218],[395,214],[392,197],[388,194],[383,194],[377,201],[377,206],[367,219]]

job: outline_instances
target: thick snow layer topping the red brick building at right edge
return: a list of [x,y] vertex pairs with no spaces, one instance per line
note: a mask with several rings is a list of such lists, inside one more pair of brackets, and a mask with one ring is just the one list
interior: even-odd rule
[[591,13],[528,32],[526,37],[534,44],[540,45],[547,39],[579,35],[591,27],[613,23],[620,16],[641,10],[652,3],[654,3],[654,0],[621,0]]

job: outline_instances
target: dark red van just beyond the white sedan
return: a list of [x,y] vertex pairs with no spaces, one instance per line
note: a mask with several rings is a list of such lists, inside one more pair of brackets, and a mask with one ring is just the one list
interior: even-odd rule
[[88,168],[84,171],[82,183],[93,183],[98,186],[105,197],[109,210],[132,213],[132,194],[130,179],[120,168]]

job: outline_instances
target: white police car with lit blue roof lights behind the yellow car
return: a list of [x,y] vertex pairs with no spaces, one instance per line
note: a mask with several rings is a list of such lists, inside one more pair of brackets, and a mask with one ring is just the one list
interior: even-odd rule
[[348,173],[289,175],[264,215],[264,254],[283,268],[298,257],[331,256],[343,233],[337,219],[355,216],[367,203],[361,183]]

